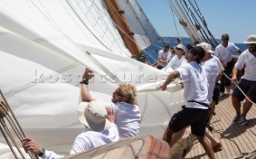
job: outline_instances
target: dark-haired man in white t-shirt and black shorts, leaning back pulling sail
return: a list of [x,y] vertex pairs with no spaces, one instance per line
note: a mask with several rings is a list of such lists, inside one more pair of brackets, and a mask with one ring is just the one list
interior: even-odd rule
[[164,84],[158,87],[165,90],[171,81],[180,77],[184,84],[184,97],[188,101],[184,108],[170,119],[163,139],[171,147],[174,145],[173,134],[190,125],[191,133],[198,138],[207,155],[214,159],[213,148],[205,135],[210,103],[207,99],[208,81],[206,74],[202,66],[199,65],[204,55],[205,51],[201,47],[192,48],[186,54],[188,63],[184,63],[177,70],[174,70]]

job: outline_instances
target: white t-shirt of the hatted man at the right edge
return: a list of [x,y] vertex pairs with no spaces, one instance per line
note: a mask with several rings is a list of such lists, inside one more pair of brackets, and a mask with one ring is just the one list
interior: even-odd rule
[[242,70],[244,66],[246,66],[245,74],[242,78],[250,81],[256,81],[256,58],[249,50],[242,52],[238,57],[238,61],[234,65],[238,70]]

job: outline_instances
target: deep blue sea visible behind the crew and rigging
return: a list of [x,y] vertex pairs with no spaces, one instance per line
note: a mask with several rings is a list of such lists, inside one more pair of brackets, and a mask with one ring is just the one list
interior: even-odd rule
[[[170,48],[171,47],[174,47],[174,46],[177,46],[178,43],[177,42],[168,42],[169,45],[170,45]],[[194,46],[194,44],[192,42],[183,42],[182,43],[185,47],[190,44],[191,46]],[[243,44],[243,43],[234,43],[234,45],[238,46],[238,48],[241,50],[241,51],[244,51],[244,50],[247,50],[248,47],[246,46],[246,44]],[[159,50],[162,50],[162,46],[163,46],[163,42],[155,42],[154,43],[154,46],[157,46],[157,47],[149,47],[146,49],[146,51],[144,52],[145,56],[146,56],[146,59],[147,61],[150,63],[150,64],[154,64],[154,62],[157,62],[158,60],[158,51]],[[214,50],[214,49],[213,49]],[[237,52],[232,52],[232,54],[234,55],[238,55]]]

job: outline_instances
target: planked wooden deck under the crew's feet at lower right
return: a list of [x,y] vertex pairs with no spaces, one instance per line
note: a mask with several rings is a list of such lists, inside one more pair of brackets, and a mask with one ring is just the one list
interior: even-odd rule
[[[238,157],[241,153],[249,153],[256,149],[256,107],[253,105],[246,119],[249,124],[242,126],[240,124],[231,125],[235,115],[230,95],[220,99],[216,105],[216,115],[212,119],[214,127],[214,137],[222,142],[222,150],[215,152],[216,158],[226,159]],[[183,158],[209,158],[207,157],[202,145],[197,141],[188,140],[190,145],[186,150]],[[193,142],[193,143],[192,143]],[[239,158],[239,157],[238,157]],[[256,158],[256,157],[253,157]]]

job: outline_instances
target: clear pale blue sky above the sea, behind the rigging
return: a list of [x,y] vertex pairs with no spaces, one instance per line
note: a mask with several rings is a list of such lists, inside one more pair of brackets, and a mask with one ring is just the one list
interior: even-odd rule
[[[191,0],[194,2],[194,0]],[[175,30],[169,0],[138,0],[158,34],[163,37],[188,37],[179,25]],[[205,17],[214,38],[223,33],[230,34],[230,42],[242,43],[250,34],[256,34],[256,0],[197,0],[201,14]]]

